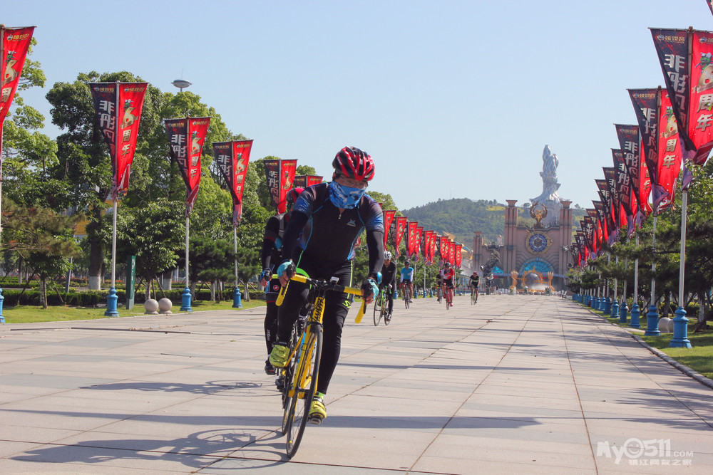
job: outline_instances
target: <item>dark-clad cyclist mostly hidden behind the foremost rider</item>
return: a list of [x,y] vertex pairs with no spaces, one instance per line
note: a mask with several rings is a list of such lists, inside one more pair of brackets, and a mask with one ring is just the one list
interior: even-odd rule
[[302,193],[302,188],[292,188],[287,192],[287,212],[270,216],[265,224],[265,235],[262,237],[262,273],[260,274],[260,286],[265,288],[265,301],[267,310],[265,311],[265,344],[267,345],[267,360],[265,360],[265,372],[268,375],[275,374],[275,368],[270,365],[270,352],[275,345],[277,338],[277,293],[279,292],[279,279],[272,278],[272,274],[279,266],[282,254],[282,238],[284,230],[289,223],[289,215],[292,205],[297,201],[297,197]]

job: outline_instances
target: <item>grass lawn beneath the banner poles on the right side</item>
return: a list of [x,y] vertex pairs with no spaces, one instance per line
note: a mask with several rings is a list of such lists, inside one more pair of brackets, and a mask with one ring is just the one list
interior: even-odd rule
[[[592,310],[590,308],[590,310]],[[610,315],[605,315],[600,310],[592,310],[597,315],[609,320],[615,325],[620,325],[623,328],[629,328],[629,323],[619,323],[619,318],[612,318]],[[631,321],[631,314],[628,315],[628,321]],[[699,372],[705,377],[713,379],[713,331],[706,330],[699,333],[693,333],[696,326],[696,319],[688,319],[688,339],[693,348],[671,348],[671,338],[673,333],[662,333],[659,336],[644,336],[637,334],[642,340],[653,348],[658,348],[662,352],[672,357],[682,365],[686,365],[692,370]],[[646,328],[646,315],[642,313],[640,316],[641,328]]]

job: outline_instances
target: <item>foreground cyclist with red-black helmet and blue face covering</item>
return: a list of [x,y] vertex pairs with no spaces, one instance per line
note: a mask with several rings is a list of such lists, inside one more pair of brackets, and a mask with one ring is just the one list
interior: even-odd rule
[[[344,147],[334,157],[332,167],[332,182],[305,189],[292,207],[277,275],[282,286],[287,285],[295,268],[310,278],[329,281],[334,276],[339,284],[352,286],[354,246],[357,237],[366,229],[369,271],[361,283],[361,293],[366,303],[371,303],[379,293],[379,271],[384,263],[384,215],[379,204],[365,194],[369,180],[374,177],[374,161],[363,150]],[[300,233],[301,246],[297,244]],[[270,353],[270,363],[275,367],[287,364],[289,335],[308,294],[307,284],[289,282],[284,301],[277,311],[277,341]],[[313,424],[319,424],[327,417],[324,395],[337,367],[342,328],[351,304],[347,293],[327,293],[322,362],[308,417]]]

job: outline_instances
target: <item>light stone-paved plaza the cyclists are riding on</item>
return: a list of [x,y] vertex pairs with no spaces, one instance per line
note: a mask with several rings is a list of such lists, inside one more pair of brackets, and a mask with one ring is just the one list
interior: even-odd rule
[[713,390],[625,330],[554,296],[455,303],[352,308],[291,461],[264,308],[1,325],[0,473],[713,473]]

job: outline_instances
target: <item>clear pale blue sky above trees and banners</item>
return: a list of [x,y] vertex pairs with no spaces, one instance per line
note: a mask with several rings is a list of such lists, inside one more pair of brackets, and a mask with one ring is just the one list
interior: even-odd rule
[[[635,124],[627,88],[662,85],[649,27],[713,30],[705,0],[13,0],[6,26],[37,26],[47,76],[174,79],[230,130],[331,177],[344,145],[376,162],[371,189],[400,209],[542,192],[545,145],[560,197],[582,207]],[[58,129],[49,121],[46,133]]]

